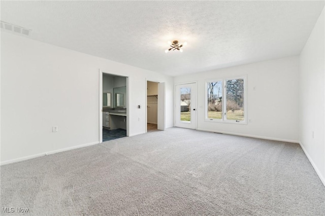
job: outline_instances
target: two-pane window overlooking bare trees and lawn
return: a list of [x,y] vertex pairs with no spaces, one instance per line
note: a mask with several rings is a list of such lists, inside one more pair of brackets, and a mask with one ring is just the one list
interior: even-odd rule
[[246,123],[245,78],[206,83],[207,121]]

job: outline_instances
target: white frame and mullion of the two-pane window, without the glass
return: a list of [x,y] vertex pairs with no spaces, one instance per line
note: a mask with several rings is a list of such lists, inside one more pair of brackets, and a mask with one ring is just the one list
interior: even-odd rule
[[[229,120],[226,119],[227,115],[227,97],[226,97],[226,82],[228,80],[238,80],[243,79],[244,80],[244,120],[238,121],[238,120]],[[208,83],[212,82],[222,82],[222,118],[221,119],[210,119],[208,118]],[[247,125],[247,75],[244,76],[238,76],[238,77],[226,77],[226,78],[219,78],[219,79],[209,79],[205,82],[205,122],[214,122],[214,123],[228,123],[228,124],[242,124]]]

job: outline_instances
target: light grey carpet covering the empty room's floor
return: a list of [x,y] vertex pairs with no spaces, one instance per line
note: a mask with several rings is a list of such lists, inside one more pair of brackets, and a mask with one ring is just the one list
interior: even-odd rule
[[29,215],[325,212],[325,187],[297,143],[183,128],[113,139],[0,171],[1,207],[13,207],[10,215],[22,215],[17,207],[28,208]]

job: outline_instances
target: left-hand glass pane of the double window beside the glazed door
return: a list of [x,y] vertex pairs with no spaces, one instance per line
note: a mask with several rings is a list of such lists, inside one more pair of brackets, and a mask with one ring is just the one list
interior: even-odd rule
[[222,119],[222,81],[207,83],[208,119]]

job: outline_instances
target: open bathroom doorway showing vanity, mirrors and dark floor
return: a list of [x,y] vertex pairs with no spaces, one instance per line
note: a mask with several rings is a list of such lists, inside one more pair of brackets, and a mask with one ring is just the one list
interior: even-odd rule
[[128,136],[128,78],[100,71],[100,142]]

